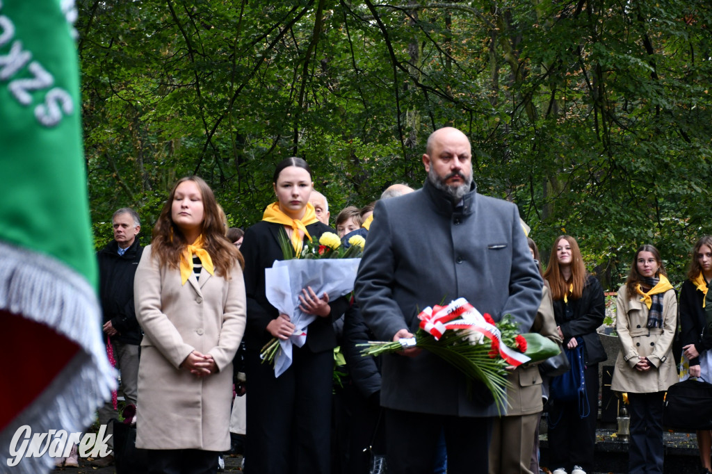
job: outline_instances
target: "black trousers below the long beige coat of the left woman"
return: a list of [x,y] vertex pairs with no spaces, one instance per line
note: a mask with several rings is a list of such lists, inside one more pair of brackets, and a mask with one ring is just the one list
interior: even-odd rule
[[215,474],[219,451],[147,449],[149,474]]

